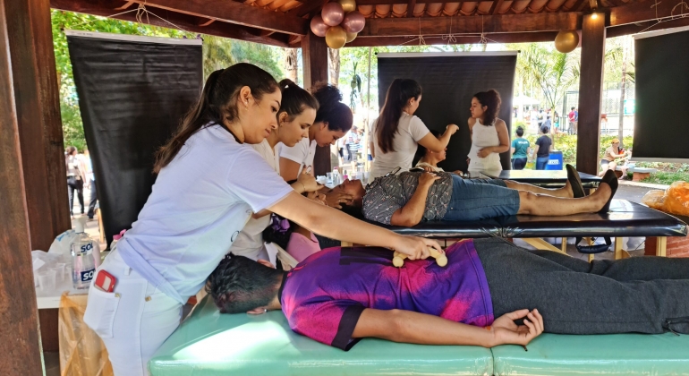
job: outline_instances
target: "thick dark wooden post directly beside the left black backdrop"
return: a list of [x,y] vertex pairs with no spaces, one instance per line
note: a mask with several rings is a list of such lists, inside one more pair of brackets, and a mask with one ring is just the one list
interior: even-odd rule
[[50,6],[47,0],[5,0],[4,8],[8,16],[30,249],[47,251],[55,236],[72,228]]

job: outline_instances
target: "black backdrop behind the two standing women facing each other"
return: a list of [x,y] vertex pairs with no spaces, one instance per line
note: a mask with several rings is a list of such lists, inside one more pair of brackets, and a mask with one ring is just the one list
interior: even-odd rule
[[[421,105],[414,115],[430,130],[445,132],[457,124],[459,132],[447,145],[447,159],[439,164],[446,171],[466,171],[466,156],[472,147],[467,120],[472,97],[479,91],[498,90],[502,106],[498,117],[512,129],[512,94],[515,85],[516,52],[380,54],[378,56],[379,106],[396,78],[421,84]],[[511,131],[510,131],[510,134]],[[504,169],[510,169],[509,151],[500,155]]]

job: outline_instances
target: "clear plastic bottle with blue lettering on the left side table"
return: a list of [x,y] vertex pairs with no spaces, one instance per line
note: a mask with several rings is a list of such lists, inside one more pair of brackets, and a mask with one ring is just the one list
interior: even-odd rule
[[74,226],[74,232],[76,232],[72,240],[72,286],[74,288],[89,288],[97,268],[97,256],[94,252],[98,252],[96,249],[98,244],[94,246],[90,236],[84,233],[85,219],[77,218]]

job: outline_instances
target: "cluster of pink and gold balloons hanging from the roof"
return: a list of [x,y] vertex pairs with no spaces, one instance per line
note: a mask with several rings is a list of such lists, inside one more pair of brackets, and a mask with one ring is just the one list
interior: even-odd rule
[[344,47],[363,30],[366,19],[356,11],[354,0],[337,0],[327,3],[319,15],[311,19],[311,31],[319,37],[326,37],[327,47]]

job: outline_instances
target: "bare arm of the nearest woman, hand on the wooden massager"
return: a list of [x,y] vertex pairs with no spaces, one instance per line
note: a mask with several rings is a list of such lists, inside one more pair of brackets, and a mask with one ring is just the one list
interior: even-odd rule
[[337,209],[310,201],[297,192],[288,193],[283,200],[268,210],[292,219],[316,234],[353,244],[386,247],[408,255],[411,260],[429,257],[429,247],[442,252],[440,245],[434,240],[395,234],[383,227],[353,218]]

